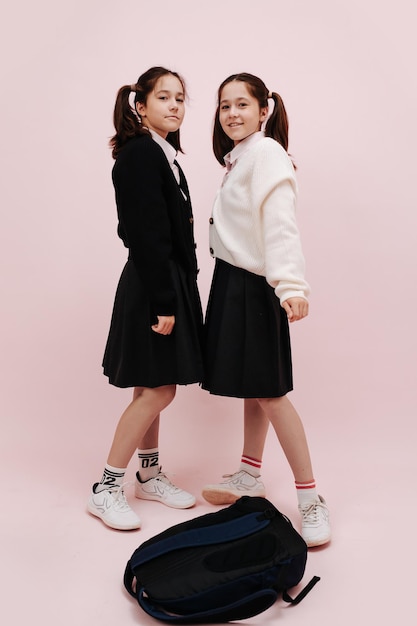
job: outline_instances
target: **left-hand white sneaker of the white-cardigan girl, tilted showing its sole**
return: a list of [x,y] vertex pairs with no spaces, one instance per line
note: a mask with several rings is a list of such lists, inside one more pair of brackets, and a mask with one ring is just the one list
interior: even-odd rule
[[225,474],[227,478],[217,485],[206,485],[202,491],[203,498],[211,504],[233,504],[242,496],[258,496],[265,498],[265,485],[245,470],[234,474]]

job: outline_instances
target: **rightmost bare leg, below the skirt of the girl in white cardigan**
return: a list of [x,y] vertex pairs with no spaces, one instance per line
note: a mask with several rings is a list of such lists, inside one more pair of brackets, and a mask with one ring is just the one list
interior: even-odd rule
[[287,396],[259,398],[258,402],[275,430],[294,479],[300,483],[313,481],[313,469],[304,427]]

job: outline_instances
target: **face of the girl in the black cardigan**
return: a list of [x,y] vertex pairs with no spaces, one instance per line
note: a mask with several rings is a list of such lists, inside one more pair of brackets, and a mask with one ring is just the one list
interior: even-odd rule
[[172,74],[161,76],[145,103],[136,103],[142,124],[166,139],[168,133],[179,129],[184,119],[184,89]]

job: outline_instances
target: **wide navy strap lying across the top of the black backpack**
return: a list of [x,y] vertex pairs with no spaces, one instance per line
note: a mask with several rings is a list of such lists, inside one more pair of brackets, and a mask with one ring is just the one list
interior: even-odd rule
[[130,567],[134,570],[135,567],[143,565],[143,563],[180,548],[228,543],[241,537],[247,537],[268,526],[270,521],[270,519],[265,518],[262,512],[256,511],[222,524],[188,529],[167,539],[161,539],[161,541],[150,546],[138,548],[129,561]]

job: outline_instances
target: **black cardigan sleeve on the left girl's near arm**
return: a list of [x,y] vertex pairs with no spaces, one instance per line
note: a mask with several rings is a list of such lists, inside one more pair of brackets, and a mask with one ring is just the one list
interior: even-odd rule
[[151,138],[131,140],[113,169],[119,235],[130,250],[155,315],[175,314],[170,272],[172,233],[165,179],[168,161]]

